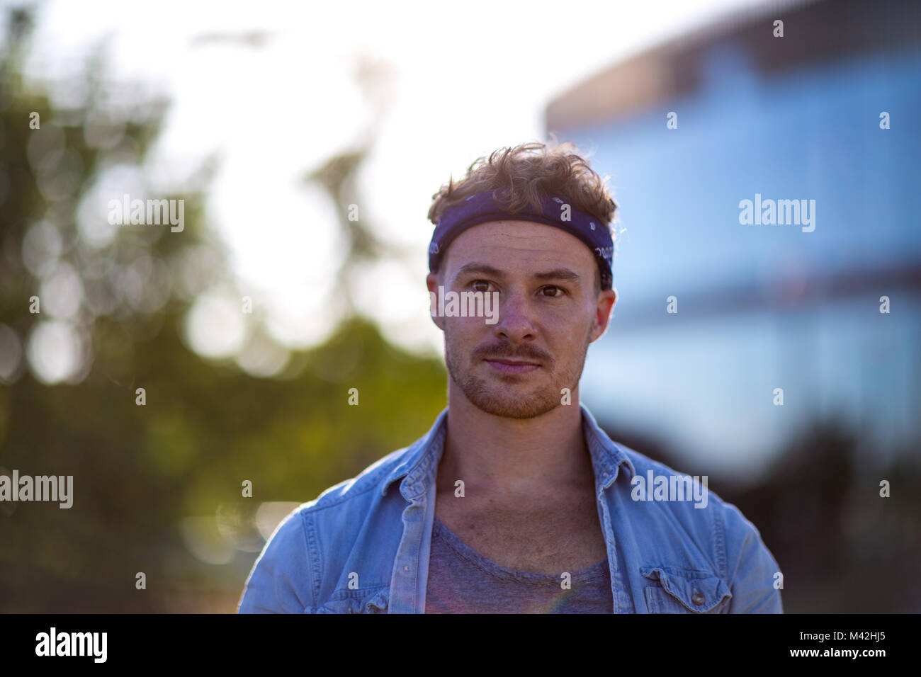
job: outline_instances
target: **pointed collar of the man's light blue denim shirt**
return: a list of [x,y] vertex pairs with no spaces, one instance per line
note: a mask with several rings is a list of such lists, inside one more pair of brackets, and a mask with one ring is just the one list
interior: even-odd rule
[[[600,495],[617,479],[622,464],[630,472],[631,478],[636,470],[624,449],[600,428],[588,407],[580,403],[579,408],[582,411],[582,433],[595,471],[595,487]],[[429,484],[435,480],[437,463],[444,449],[447,418],[448,407],[445,407],[428,432],[406,449],[403,461],[384,481],[381,496],[385,496],[390,485],[401,477],[400,493],[407,501],[415,503],[426,496]]]

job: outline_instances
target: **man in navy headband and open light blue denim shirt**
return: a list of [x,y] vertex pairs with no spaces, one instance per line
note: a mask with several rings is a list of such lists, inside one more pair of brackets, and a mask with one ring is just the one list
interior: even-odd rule
[[526,144],[436,193],[449,406],[291,513],[240,613],[782,613],[752,523],[579,404],[617,298],[604,183],[572,146]]

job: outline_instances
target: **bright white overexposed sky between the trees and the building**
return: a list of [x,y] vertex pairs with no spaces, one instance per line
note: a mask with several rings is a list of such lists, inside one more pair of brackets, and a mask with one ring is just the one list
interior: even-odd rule
[[[361,302],[392,341],[440,354],[427,310],[426,213],[450,172],[462,175],[499,146],[545,140],[547,102],[586,77],[760,4],[52,0],[39,14],[29,74],[66,78],[106,39],[111,76],[166,93],[173,107],[151,169],[175,179],[219,154],[211,226],[274,337],[303,346],[333,328],[336,309],[325,294],[337,249],[331,207],[302,177],[368,123],[352,76],[356,55],[386,60],[392,105],[361,175],[359,210],[383,238],[416,253],[412,270],[386,262],[369,270]],[[259,48],[194,42],[256,30],[267,35]],[[208,327],[215,341],[239,333],[221,327],[227,313],[203,312],[201,343],[192,342],[200,352],[208,352]]]

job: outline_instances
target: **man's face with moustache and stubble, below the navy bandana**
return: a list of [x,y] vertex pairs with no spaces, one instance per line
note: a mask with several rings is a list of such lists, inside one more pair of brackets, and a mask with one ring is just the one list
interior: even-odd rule
[[498,321],[434,317],[445,333],[452,390],[488,414],[531,418],[575,392],[589,344],[607,328],[616,300],[596,293],[598,264],[560,228],[490,221],[451,242],[429,291],[498,292]]

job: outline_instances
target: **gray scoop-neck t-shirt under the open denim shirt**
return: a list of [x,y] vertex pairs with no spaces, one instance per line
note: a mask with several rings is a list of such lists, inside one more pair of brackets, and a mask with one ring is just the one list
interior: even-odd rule
[[[562,574],[562,572],[560,572]],[[612,613],[605,557],[563,578],[513,571],[475,552],[435,518],[428,558],[426,613]]]

